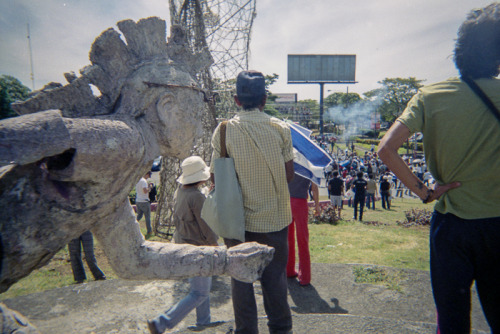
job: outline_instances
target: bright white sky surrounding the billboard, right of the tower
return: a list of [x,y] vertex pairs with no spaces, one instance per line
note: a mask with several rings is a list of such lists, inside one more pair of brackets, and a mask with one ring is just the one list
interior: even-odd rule
[[[349,85],[349,91],[358,93],[377,88],[386,77],[433,82],[456,75],[450,55],[458,26],[472,8],[490,3],[294,0],[273,11],[276,2],[281,1],[258,1],[251,67],[278,73],[271,90],[298,92],[299,99],[319,99],[319,85],[286,83],[286,56],[291,53],[356,54],[359,83]],[[326,85],[325,90],[325,95],[327,90],[346,91],[346,85]]]

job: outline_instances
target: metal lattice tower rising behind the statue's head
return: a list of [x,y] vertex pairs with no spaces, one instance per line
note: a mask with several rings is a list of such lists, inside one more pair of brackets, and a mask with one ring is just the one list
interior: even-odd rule
[[[193,52],[208,48],[214,64],[199,73],[200,85],[219,95],[217,105],[210,104],[204,113],[203,136],[191,154],[210,161],[210,139],[217,126],[217,116],[226,117],[234,108],[234,79],[248,68],[250,33],[256,15],[256,0],[169,0],[170,23],[181,25]],[[154,216],[157,235],[170,238],[173,196],[180,175],[180,161],[164,158],[160,172],[158,204]]]

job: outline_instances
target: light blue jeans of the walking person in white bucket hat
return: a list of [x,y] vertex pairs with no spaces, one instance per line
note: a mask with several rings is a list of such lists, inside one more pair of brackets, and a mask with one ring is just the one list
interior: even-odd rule
[[189,294],[165,313],[153,319],[160,333],[174,328],[184,319],[189,312],[196,308],[196,326],[210,323],[210,289],[212,288],[212,277],[192,277]]

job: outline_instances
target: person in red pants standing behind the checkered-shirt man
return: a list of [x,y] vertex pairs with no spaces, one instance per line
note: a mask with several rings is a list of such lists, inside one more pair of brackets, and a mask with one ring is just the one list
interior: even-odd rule
[[[307,197],[309,188],[313,194],[316,215],[319,215],[319,190],[318,186],[298,174],[288,184],[290,191],[290,204],[292,207],[292,223],[288,226],[288,262],[286,266],[287,277],[298,277],[299,284],[311,284],[311,258],[309,255],[309,207]],[[299,271],[295,270],[295,232],[297,232],[297,247],[299,252]]]

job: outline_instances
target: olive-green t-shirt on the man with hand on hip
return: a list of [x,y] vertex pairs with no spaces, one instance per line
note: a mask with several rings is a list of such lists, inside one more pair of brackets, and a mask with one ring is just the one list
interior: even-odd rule
[[[476,80],[500,108],[500,80]],[[462,185],[435,206],[463,219],[500,217],[500,123],[459,78],[425,86],[398,118],[424,134],[425,159],[440,184]]]

